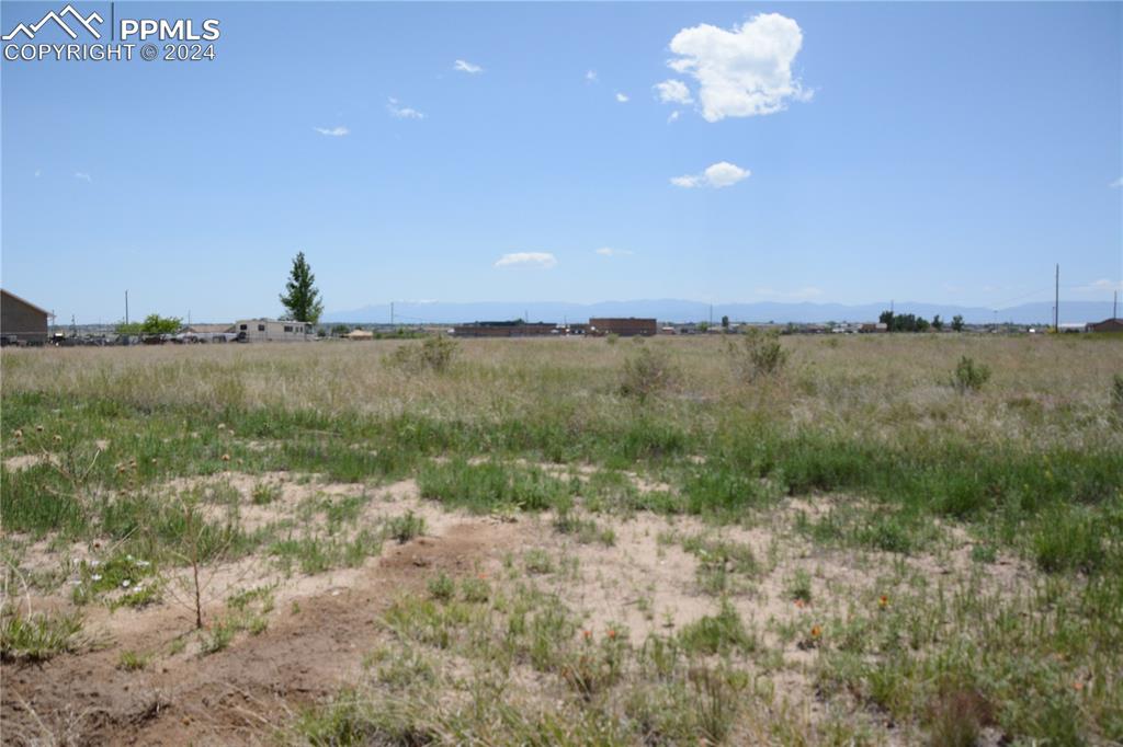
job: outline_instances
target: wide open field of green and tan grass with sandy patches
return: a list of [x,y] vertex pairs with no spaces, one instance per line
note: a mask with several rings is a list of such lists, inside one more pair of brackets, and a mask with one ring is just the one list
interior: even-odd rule
[[1123,741],[1123,341],[782,345],[6,350],[4,741]]

